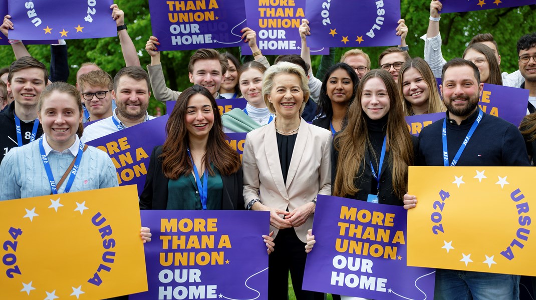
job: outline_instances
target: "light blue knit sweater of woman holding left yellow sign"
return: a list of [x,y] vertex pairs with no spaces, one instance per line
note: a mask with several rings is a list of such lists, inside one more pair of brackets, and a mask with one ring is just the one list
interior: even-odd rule
[[[50,152],[48,161],[56,183],[75,156]],[[70,175],[69,175],[70,176]],[[59,187],[63,193],[69,177]],[[108,154],[88,146],[82,155],[70,192],[117,186],[116,169]],[[39,153],[39,141],[11,149],[0,165],[0,200],[38,197],[50,194],[47,172]]]

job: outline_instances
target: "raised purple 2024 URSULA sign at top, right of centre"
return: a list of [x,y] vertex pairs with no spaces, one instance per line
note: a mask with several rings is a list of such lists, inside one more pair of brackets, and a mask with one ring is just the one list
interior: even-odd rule
[[396,46],[400,0],[308,0],[310,47]]

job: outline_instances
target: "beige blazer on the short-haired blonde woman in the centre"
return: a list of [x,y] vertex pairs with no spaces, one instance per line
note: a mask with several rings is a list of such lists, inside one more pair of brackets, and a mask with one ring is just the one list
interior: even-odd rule
[[[259,198],[266,206],[282,211],[288,208],[292,212],[315,200],[317,194],[331,195],[331,132],[301,119],[285,185],[274,123],[249,132],[245,138],[242,156],[245,205]],[[306,243],[307,230],[311,228],[312,215],[294,229]],[[275,238],[278,229],[270,226],[270,230]]]

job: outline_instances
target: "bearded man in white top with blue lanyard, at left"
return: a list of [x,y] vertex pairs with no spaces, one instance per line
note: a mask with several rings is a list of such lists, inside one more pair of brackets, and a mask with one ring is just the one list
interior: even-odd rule
[[147,114],[150,83],[147,72],[141,67],[128,66],[119,70],[114,77],[114,90],[111,93],[117,108],[112,116],[88,125],[81,138],[83,142],[154,119]]

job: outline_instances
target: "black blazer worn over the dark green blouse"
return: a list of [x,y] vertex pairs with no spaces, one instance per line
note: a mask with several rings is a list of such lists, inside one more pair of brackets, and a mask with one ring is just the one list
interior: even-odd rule
[[[154,147],[145,178],[145,186],[139,197],[139,209],[166,209],[168,198],[168,182],[162,172],[162,146]],[[242,168],[229,176],[221,175],[224,185],[221,209],[244,209],[242,196]]]

